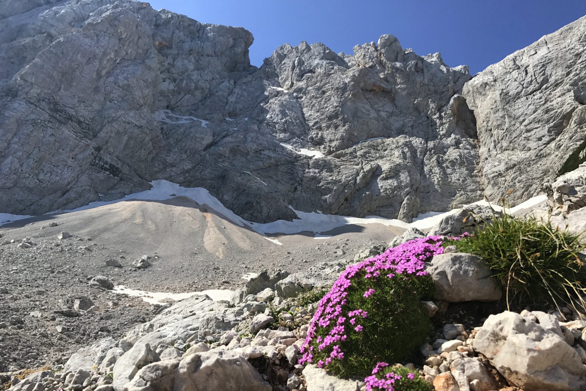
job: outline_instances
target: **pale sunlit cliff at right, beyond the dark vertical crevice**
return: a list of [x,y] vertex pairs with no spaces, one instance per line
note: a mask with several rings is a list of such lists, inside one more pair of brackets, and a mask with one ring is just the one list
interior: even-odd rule
[[586,16],[477,74],[464,96],[478,121],[482,186],[512,203],[539,193],[586,139]]

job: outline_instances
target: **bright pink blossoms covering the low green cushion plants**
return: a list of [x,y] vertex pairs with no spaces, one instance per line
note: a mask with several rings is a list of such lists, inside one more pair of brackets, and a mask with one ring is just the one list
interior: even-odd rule
[[[377,278],[393,278],[397,274],[413,274],[415,276],[425,276],[424,262],[431,257],[442,254],[444,247],[441,243],[444,240],[442,236],[424,237],[421,239],[410,240],[400,244],[397,247],[388,249],[383,254],[373,258],[366,259],[361,263],[350,265],[340,275],[338,280],[333,284],[328,294],[319,301],[318,308],[315,311],[314,318],[309,325],[305,343],[301,348],[304,356],[299,360],[300,364],[310,363],[314,357],[314,345],[319,352],[324,349],[331,349],[331,354],[325,361],[319,361],[318,366],[328,366],[333,360],[342,360],[343,342],[349,338],[351,333],[360,333],[362,325],[355,324],[359,318],[366,318],[368,313],[362,309],[346,308],[347,288],[352,285],[352,278],[360,273],[360,276],[369,281],[376,281]],[[364,274],[362,274],[364,272]],[[371,285],[373,286],[373,285]],[[373,300],[376,297],[376,290],[369,288],[364,292],[363,297]],[[350,327],[347,325],[350,324]],[[318,328],[322,328],[317,336]],[[401,376],[389,373],[384,379],[377,379],[374,375],[387,363],[379,363],[373,369],[373,376],[365,379],[367,390],[373,390],[373,387],[393,391],[393,383],[400,379]]]

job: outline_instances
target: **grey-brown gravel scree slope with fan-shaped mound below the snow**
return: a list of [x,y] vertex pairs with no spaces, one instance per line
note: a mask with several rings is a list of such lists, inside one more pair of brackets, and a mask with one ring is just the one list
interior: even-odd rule
[[[0,228],[0,372],[58,365],[80,346],[121,338],[174,293],[234,291],[261,268],[296,273],[320,261],[345,263],[393,236],[367,227],[331,239],[290,235],[279,245],[184,199],[35,220]],[[158,292],[159,304],[104,289],[103,281]]]

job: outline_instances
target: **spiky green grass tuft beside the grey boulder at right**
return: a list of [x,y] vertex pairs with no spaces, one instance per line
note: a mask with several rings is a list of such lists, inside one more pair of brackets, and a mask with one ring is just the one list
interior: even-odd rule
[[578,253],[586,246],[580,234],[554,227],[549,221],[503,213],[472,237],[444,242],[449,245],[486,261],[506,292],[509,308],[513,301],[518,301],[519,308],[546,303],[558,310],[567,304],[584,307],[586,268]]

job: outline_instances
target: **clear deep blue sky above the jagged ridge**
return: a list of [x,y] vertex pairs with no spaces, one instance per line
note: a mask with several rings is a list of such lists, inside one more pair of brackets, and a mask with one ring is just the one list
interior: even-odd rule
[[334,52],[393,34],[418,55],[440,52],[472,74],[586,15],[584,0],[154,0],[155,9],[254,35],[250,62],[278,46],[323,42]]

